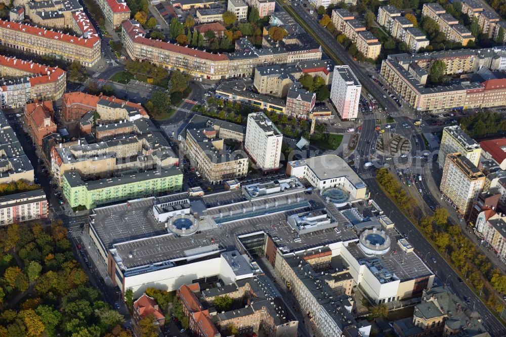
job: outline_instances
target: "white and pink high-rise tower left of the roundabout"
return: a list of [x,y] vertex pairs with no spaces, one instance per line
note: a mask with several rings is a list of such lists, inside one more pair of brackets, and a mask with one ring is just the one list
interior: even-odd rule
[[335,66],[330,88],[330,101],[342,120],[355,120],[358,116],[362,85],[350,66]]

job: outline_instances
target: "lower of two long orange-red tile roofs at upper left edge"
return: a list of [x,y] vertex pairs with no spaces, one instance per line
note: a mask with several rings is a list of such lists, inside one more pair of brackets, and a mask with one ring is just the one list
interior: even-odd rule
[[39,75],[30,77],[30,83],[32,86],[56,82],[62,75],[65,74],[65,70],[58,67],[48,67],[44,64],[23,61],[3,55],[0,55],[0,65]]

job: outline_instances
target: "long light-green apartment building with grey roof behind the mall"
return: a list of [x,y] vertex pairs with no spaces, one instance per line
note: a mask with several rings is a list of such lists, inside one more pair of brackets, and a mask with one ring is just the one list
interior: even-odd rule
[[63,175],[62,189],[71,207],[79,205],[91,209],[98,205],[123,200],[179,192],[183,187],[183,173],[173,166],[123,177],[82,181],[78,172]]

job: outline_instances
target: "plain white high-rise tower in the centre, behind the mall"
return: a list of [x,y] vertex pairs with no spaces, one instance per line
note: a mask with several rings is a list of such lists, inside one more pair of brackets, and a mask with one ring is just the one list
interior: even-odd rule
[[244,151],[262,171],[279,168],[283,134],[262,112],[250,113],[246,124]]

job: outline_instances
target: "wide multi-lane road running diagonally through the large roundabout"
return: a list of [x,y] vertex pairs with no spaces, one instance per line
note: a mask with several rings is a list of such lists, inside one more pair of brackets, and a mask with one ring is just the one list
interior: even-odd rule
[[[322,26],[320,26],[317,18],[310,15],[304,7],[301,6],[301,2],[293,0],[292,4],[297,3],[297,6],[291,6],[293,11],[303,20],[314,33],[318,35],[318,38],[338,57],[343,64],[350,66],[354,74],[357,76],[359,81],[362,83],[363,88],[371,93],[379,104],[381,104],[388,113],[398,111],[399,108],[388,97],[384,98],[384,91],[376,85],[366,73],[366,68],[358,65],[346,52],[333,36]],[[281,7],[284,4],[279,3]],[[297,18],[296,18],[297,19]],[[311,33],[311,32],[310,32]],[[378,116],[380,117],[380,116]],[[413,125],[412,119],[406,119],[401,114],[394,114],[394,123],[392,127],[395,127],[396,133],[401,134],[411,142],[411,153],[409,158],[405,159],[406,163],[410,160],[421,161],[418,164],[429,164],[431,165],[431,158],[420,159],[420,153],[425,151],[425,143],[418,132],[417,128]],[[403,123],[407,123],[410,128],[402,126]],[[355,152],[355,163],[358,174],[364,179],[370,189],[370,195],[374,197],[383,208],[386,215],[388,215],[395,223],[399,231],[408,235],[409,242],[413,245],[419,256],[426,261],[429,267],[436,273],[440,283],[446,283],[461,299],[466,297],[470,301],[470,305],[477,310],[482,318],[483,324],[488,329],[492,336],[504,336],[506,335],[506,328],[504,325],[490,312],[488,307],[479,299],[479,297],[469,288],[466,283],[460,283],[458,281],[458,275],[453,268],[440,256],[439,252],[428,242],[428,240],[418,231],[418,229],[404,216],[401,210],[392,202],[392,200],[385,195],[382,189],[378,186],[375,181],[374,175],[370,168],[364,168],[363,164],[370,161],[369,155],[373,154],[372,145],[379,136],[374,130],[376,120],[374,118],[364,118],[362,124],[362,131],[359,138],[358,145]],[[415,141],[415,139],[417,141]],[[367,142],[370,141],[370,142]],[[418,157],[416,159],[415,157]],[[395,163],[404,164],[403,159],[394,158]],[[379,162],[383,163],[385,160],[380,156]],[[427,162],[429,161],[429,162]],[[358,164],[357,164],[358,162]],[[425,179],[424,179],[425,181]],[[419,188],[422,189],[424,199],[428,201],[430,206],[437,206],[438,202],[434,198],[427,186],[426,182],[418,184]],[[433,262],[434,259],[436,263]]]

